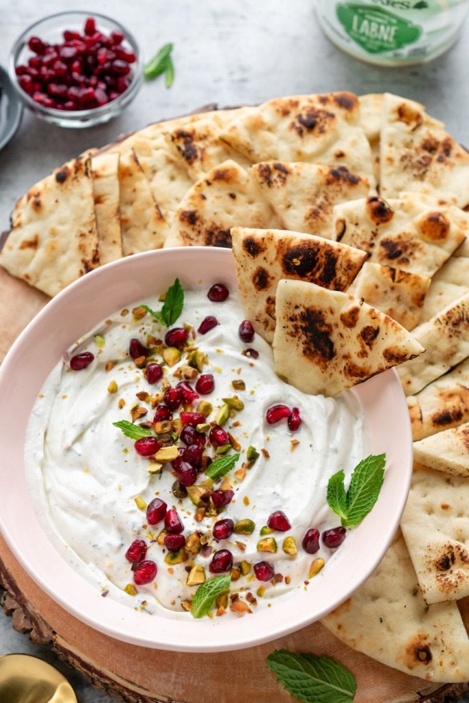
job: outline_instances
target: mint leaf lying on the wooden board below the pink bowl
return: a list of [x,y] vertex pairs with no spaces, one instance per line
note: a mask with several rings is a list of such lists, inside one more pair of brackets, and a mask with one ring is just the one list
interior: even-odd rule
[[352,703],[356,681],[330,657],[275,650],[267,666],[291,695],[304,703]]

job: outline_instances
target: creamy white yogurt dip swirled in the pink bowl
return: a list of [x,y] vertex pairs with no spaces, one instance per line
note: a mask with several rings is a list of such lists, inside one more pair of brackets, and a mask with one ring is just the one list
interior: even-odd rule
[[[162,384],[174,387],[184,380],[180,374],[188,364],[184,350],[173,366],[162,361],[157,340],[164,339],[167,329],[150,314],[136,318],[131,309],[141,304],[159,307],[153,297],[103,321],[57,364],[34,404],[25,466],[37,515],[49,537],[66,560],[105,595],[169,617],[191,617],[185,611],[196,586],[187,585],[188,572],[198,565],[207,579],[217,575],[210,573],[217,550],[229,550],[233,555],[236,571],[231,597],[238,594],[234,598],[246,602],[250,610],[304,588],[313,558],[326,560],[321,574],[326,576],[333,550],[321,542],[313,557],[302,548],[302,540],[310,528],[322,533],[338,526],[338,517],[326,501],[328,479],[342,468],[347,485],[354,466],[367,454],[356,396],[352,392],[339,399],[310,396],[286,384],[275,373],[269,344],[259,335],[249,344],[240,339],[238,327],[244,314],[236,291],[231,290],[225,302],[217,303],[207,298],[206,288],[186,291],[184,309],[174,326],[191,325],[189,343],[205,355],[202,373],[214,377],[214,391],[200,395],[200,400],[212,404],[207,422],[214,423],[224,405],[222,399],[237,396],[243,404],[241,410],[232,409],[224,423],[240,458],[233,470],[213,485],[213,490],[231,489],[233,498],[218,514],[209,505],[200,519],[200,510],[189,497],[178,498],[172,492],[176,479],[172,465],[165,463],[158,471],[155,459],[140,456],[134,449],[135,440],[113,425],[118,420],[131,421],[132,408],[134,413],[142,412],[135,411],[136,406],[148,411],[134,418],[136,425],[150,423],[155,406],[162,402]],[[209,315],[217,318],[217,326],[205,334],[197,333]],[[137,366],[139,360],[129,356],[131,338],[151,349],[147,362],[163,363],[164,376],[159,382],[150,384],[143,368]],[[255,349],[259,356],[245,355],[247,349]],[[85,351],[94,354],[94,361],[82,370],[72,370],[70,358]],[[233,387],[232,382],[240,380],[244,390]],[[189,382],[195,387],[195,378]],[[194,401],[193,411],[198,402]],[[302,423],[297,431],[291,432],[285,419],[266,423],[266,411],[276,404],[299,408]],[[173,418],[183,409],[174,411]],[[174,438],[176,446],[185,446],[175,434]],[[246,456],[250,446],[259,453],[254,463]],[[205,454],[217,458],[209,442]],[[200,472],[196,484],[205,479]],[[168,509],[177,510],[186,538],[197,533],[201,542],[198,553],[186,554],[182,562],[168,563],[171,557],[162,536],[159,538],[164,523],[152,525],[146,519],[146,506],[155,497],[165,501]],[[261,533],[269,515],[277,510],[288,517],[291,529],[268,534],[264,529]],[[217,542],[212,527],[225,518],[235,523],[252,520],[255,529],[252,534],[231,534]],[[296,555],[285,553],[286,537],[295,539]],[[259,540],[265,538],[274,539],[275,553],[259,552]],[[158,566],[155,579],[145,585],[135,585],[132,565],[125,556],[136,539],[146,542],[145,559]],[[347,548],[347,540],[341,548]],[[252,567],[260,561],[273,565],[274,579],[261,582],[256,578]],[[234,580],[236,576],[239,578]]]

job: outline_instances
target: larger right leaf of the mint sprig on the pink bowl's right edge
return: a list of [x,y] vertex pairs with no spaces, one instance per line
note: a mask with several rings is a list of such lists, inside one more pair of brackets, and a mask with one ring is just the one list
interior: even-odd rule
[[383,486],[385,463],[385,454],[371,454],[354,468],[347,491],[347,518],[342,520],[343,527],[359,524],[373,508]]

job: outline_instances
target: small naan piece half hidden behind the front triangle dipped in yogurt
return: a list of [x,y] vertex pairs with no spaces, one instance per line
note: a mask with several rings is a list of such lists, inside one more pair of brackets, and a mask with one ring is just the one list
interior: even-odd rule
[[366,262],[348,292],[412,330],[420,318],[430,278]]

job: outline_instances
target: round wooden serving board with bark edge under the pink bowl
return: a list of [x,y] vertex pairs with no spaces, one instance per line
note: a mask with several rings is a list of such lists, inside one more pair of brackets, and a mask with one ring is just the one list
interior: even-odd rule
[[[0,267],[0,361],[48,298]],[[428,685],[354,652],[320,623],[290,636],[238,652],[185,654],[128,645],[86,626],[56,604],[16,562],[0,536],[1,604],[13,627],[50,645],[91,683],[125,703],[291,702],[266,667],[274,649],[328,654],[354,673],[355,703],[458,701],[466,684]],[[1,593],[0,593],[1,595]],[[244,616],[250,617],[250,616]]]

